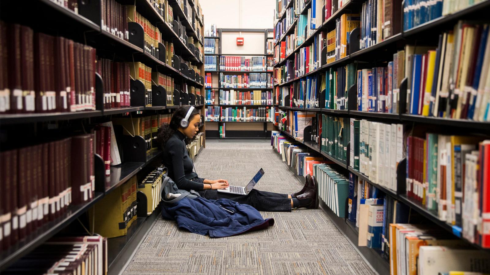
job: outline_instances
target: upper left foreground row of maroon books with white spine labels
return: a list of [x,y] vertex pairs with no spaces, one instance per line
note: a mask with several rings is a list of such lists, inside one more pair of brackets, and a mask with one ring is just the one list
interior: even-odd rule
[[95,48],[1,21],[0,45],[0,113],[95,110]]

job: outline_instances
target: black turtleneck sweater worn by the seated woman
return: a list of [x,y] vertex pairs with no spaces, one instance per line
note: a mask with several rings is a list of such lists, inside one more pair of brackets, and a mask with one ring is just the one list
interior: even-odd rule
[[185,136],[180,131],[176,131],[165,144],[163,162],[169,168],[169,177],[179,189],[202,190],[202,183],[190,180],[196,178],[197,174],[193,171],[194,165],[187,152]]

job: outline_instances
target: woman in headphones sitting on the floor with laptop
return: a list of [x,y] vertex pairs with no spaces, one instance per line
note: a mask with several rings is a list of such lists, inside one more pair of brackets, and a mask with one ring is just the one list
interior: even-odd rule
[[[193,106],[181,106],[169,123],[160,126],[158,139],[163,148],[164,164],[169,177],[179,189],[194,190],[200,196],[216,200],[230,199],[240,204],[253,206],[260,211],[291,211],[292,208],[318,208],[317,188],[312,178],[307,177],[303,189],[294,194],[279,194],[252,189],[248,195],[218,192],[228,187],[226,180],[199,178],[193,170],[194,163],[186,148],[186,138],[194,138],[199,131],[200,115]],[[205,161],[205,160],[203,160]]]

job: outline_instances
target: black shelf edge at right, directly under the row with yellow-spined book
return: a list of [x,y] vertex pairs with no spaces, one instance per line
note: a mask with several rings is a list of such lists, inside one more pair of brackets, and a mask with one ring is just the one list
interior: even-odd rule
[[448,117],[434,117],[423,115],[408,115],[402,114],[401,119],[403,121],[415,121],[428,124],[440,124],[454,127],[475,128],[481,130],[490,130],[489,121],[476,121],[469,119],[448,118]]

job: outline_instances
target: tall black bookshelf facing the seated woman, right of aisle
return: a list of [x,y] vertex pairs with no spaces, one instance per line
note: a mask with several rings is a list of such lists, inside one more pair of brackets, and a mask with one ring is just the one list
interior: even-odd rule
[[[293,1],[291,1],[293,2]],[[287,8],[294,8],[296,11],[296,3],[292,4],[291,2],[285,4]],[[299,13],[295,15],[298,16],[300,14],[307,15],[308,9],[312,8],[312,2],[304,1],[305,6],[300,10]],[[275,45],[275,53],[274,53],[274,98],[278,99],[278,102],[274,102],[277,104],[279,111],[281,112],[279,115],[279,119],[281,119],[281,114],[283,112],[288,114],[290,111],[302,111],[307,112],[307,114],[315,114],[315,115],[329,115],[335,118],[343,118],[344,122],[349,121],[351,118],[354,119],[367,119],[369,121],[383,122],[383,123],[397,123],[402,124],[404,127],[415,129],[416,132],[418,129],[428,129],[427,133],[442,133],[444,135],[474,135],[482,137],[481,140],[488,139],[488,134],[490,133],[490,122],[489,121],[479,121],[472,120],[466,118],[450,118],[450,117],[438,117],[438,116],[424,116],[424,115],[413,115],[409,114],[406,110],[408,109],[408,105],[410,101],[407,100],[410,94],[411,87],[408,85],[407,78],[403,79],[401,83],[399,83],[399,101],[400,104],[399,109],[392,113],[382,113],[382,112],[367,112],[367,111],[359,111],[358,110],[358,79],[356,72],[358,69],[368,69],[373,67],[386,67],[387,63],[393,60],[393,54],[397,53],[398,50],[403,50],[405,45],[415,45],[415,46],[431,46],[434,49],[438,47],[439,35],[445,31],[452,30],[455,24],[460,20],[467,20],[468,22],[474,22],[473,20],[482,20],[481,22],[488,23],[488,19],[485,17],[484,10],[488,10],[490,7],[490,1],[483,0],[475,3],[473,5],[464,7],[460,10],[450,12],[447,15],[442,15],[439,18],[435,18],[426,23],[422,23],[416,25],[409,29],[404,29],[403,22],[408,19],[404,18],[406,15],[403,13],[403,4],[406,1],[401,3],[401,6],[397,6],[395,8],[399,8],[401,10],[401,17],[398,18],[401,24],[400,31],[398,33],[393,33],[388,38],[385,38],[382,41],[378,41],[377,44],[368,46],[366,48],[361,48],[360,46],[360,27],[354,28],[350,31],[350,42],[348,42],[348,52],[342,58],[337,58],[333,62],[327,63],[326,59],[328,56],[327,47],[319,49],[318,54],[318,64],[310,69],[310,71],[306,71],[300,75],[295,74],[294,70],[298,68],[294,67],[295,58],[297,55],[301,53],[301,51],[306,46],[315,46],[316,40],[319,39],[319,35],[322,33],[328,33],[336,28],[336,21],[341,19],[343,14],[357,14],[361,13],[362,5],[367,1],[343,1],[343,5],[338,7],[337,10],[334,10],[333,13],[326,20],[324,19],[324,7],[323,14],[321,14],[322,22],[316,29],[312,29],[310,35],[304,37],[304,40],[301,43],[297,43],[294,40],[293,47],[286,47],[286,49],[291,49],[291,51],[278,52],[281,51],[280,45],[281,42],[286,43],[287,36],[293,33],[295,25],[298,24],[298,17],[295,17],[293,24],[286,29],[286,31],[277,36],[275,35],[274,45]],[[445,2],[445,1],[444,1]],[[393,1],[394,3],[394,1]],[[399,4],[398,4],[399,5]],[[276,17],[275,24],[280,23],[280,20],[283,20],[284,14],[282,16]],[[361,17],[361,25],[363,23]],[[275,25],[277,27],[277,25]],[[305,32],[306,33],[306,32]],[[325,42],[326,45],[326,42]],[[320,46],[321,47],[321,46]],[[280,58],[280,56],[284,56]],[[317,61],[317,60],[315,60]],[[289,74],[286,72],[282,75],[283,78],[278,76],[277,70],[281,70],[281,67],[286,66],[289,62],[293,62],[293,73]],[[310,78],[313,81],[317,81],[320,83],[326,76],[329,76],[329,72],[331,69],[337,73],[337,69],[346,67],[349,64],[354,64],[354,77],[353,83],[349,85],[345,85],[345,105],[338,105],[336,108],[327,106],[325,102],[325,93],[327,90],[320,88],[320,84],[318,84],[315,89],[312,91],[316,95],[316,100],[318,101],[318,105],[313,105],[311,107],[315,108],[307,108],[306,104],[301,105],[301,102],[297,103],[298,99],[307,98],[306,91],[302,94],[302,97],[299,98],[298,94],[288,94],[286,96],[282,95],[282,88],[287,89],[296,89],[295,85],[298,85],[301,81]],[[312,65],[310,65],[312,66]],[[310,67],[312,68],[312,67]],[[286,76],[286,78],[284,78]],[[436,79],[437,76],[435,76]],[[324,80],[323,80],[324,81]],[[434,80],[436,81],[436,80]],[[327,82],[328,85],[328,82]],[[408,87],[407,87],[408,86]],[[328,89],[328,86],[327,86]],[[328,91],[327,91],[328,92]],[[293,100],[294,99],[294,100]],[[328,100],[328,98],[327,98]],[[405,103],[407,102],[407,103]],[[332,103],[330,103],[332,104]],[[342,106],[342,107],[340,107]],[[338,110],[343,109],[343,110]],[[288,116],[288,122],[289,122]],[[347,122],[348,123],[348,122]],[[406,169],[407,169],[407,158],[404,158],[398,163],[396,167],[396,191],[386,187],[385,185],[381,185],[379,183],[375,183],[372,180],[369,180],[369,177],[365,174],[359,172],[354,169],[349,164],[349,152],[351,150],[352,144],[348,142],[346,146],[347,156],[346,160],[338,160],[333,156],[333,153],[323,151],[321,146],[321,140],[319,142],[315,140],[310,140],[310,138],[296,139],[294,134],[285,131],[286,128],[280,128],[280,134],[286,137],[289,141],[294,141],[297,144],[303,145],[302,148],[305,149],[305,152],[312,152],[316,155],[323,156],[325,160],[330,160],[335,163],[336,170],[339,173],[344,175],[348,173],[352,173],[357,178],[363,180],[364,182],[370,184],[371,186],[376,187],[379,191],[385,194],[387,198],[391,198],[402,204],[409,206],[412,211],[418,213],[421,217],[425,218],[428,223],[435,225],[436,228],[442,229],[445,233],[452,235],[455,239],[464,240],[465,244],[472,249],[481,250],[482,252],[487,252],[488,249],[482,248],[479,244],[473,243],[471,241],[466,240],[462,236],[462,227],[453,225],[450,221],[446,222],[439,218],[438,211],[429,210],[427,206],[422,204],[421,201],[417,201],[414,198],[408,197],[406,194]],[[430,129],[430,130],[429,130]],[[434,130],[432,130],[434,129]],[[318,129],[317,129],[318,131]],[[432,132],[431,132],[432,131]],[[310,134],[308,132],[308,134]],[[305,135],[307,132],[305,131]],[[414,135],[415,134],[410,134]],[[485,138],[487,137],[487,138]],[[319,138],[321,139],[321,138]],[[437,142],[437,141],[436,141]],[[403,146],[403,145],[402,145]],[[477,149],[478,150],[478,147]],[[424,162],[425,163],[425,162]],[[292,171],[296,174],[296,171],[292,169]],[[297,176],[297,174],[296,174]],[[297,176],[298,179],[304,183],[304,177]],[[354,247],[358,249],[358,251],[368,260],[368,262],[373,266],[373,268],[379,274],[389,274],[390,273],[390,263],[389,259],[384,256],[381,251],[376,249],[369,249],[367,247],[359,247],[357,246],[359,232],[355,225],[347,219],[339,218],[335,213],[332,212],[331,209],[326,206],[324,202],[320,202],[320,207],[324,210],[327,216],[331,218],[334,224],[341,230],[344,235],[349,239]],[[449,207],[449,206],[448,206]],[[396,274],[396,272],[395,272]]]

